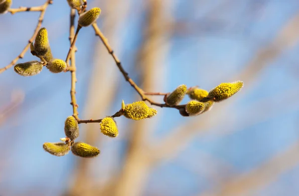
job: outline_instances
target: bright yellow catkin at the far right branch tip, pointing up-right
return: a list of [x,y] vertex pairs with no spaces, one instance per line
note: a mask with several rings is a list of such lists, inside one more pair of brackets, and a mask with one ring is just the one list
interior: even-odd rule
[[209,92],[209,95],[201,101],[206,102],[213,100],[215,102],[223,101],[236,94],[243,87],[242,81],[232,83],[221,83]]

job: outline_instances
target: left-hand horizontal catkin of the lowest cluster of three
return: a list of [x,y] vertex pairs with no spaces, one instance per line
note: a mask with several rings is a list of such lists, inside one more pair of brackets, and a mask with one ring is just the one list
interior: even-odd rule
[[43,144],[43,149],[55,156],[64,156],[70,151],[70,146],[64,142],[50,143],[46,142]]

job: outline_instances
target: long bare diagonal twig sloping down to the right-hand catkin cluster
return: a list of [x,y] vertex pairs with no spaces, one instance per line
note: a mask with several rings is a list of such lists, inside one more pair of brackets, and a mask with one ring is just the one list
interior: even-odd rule
[[111,56],[113,57],[117,67],[119,68],[119,70],[121,71],[121,73],[123,74],[123,76],[125,77],[126,81],[129,82],[131,84],[131,86],[136,90],[136,92],[141,96],[143,101],[148,101],[151,105],[155,105],[155,106],[159,106],[159,107],[165,107],[165,108],[176,108],[176,109],[180,109],[180,108],[184,108],[185,105],[177,105],[177,106],[169,106],[165,103],[157,103],[152,101],[151,99],[149,99],[146,96],[146,93],[144,92],[144,90],[142,88],[140,88],[134,81],[132,78],[129,77],[128,72],[125,71],[125,69],[122,66],[121,61],[119,60],[119,58],[115,55],[112,47],[110,46],[108,39],[105,37],[105,35],[102,33],[102,31],[100,30],[100,28],[98,27],[97,23],[93,23],[93,28],[95,30],[95,33],[97,36],[100,37],[100,39],[102,40],[103,44],[105,45],[106,49],[108,50],[109,54],[111,54]]

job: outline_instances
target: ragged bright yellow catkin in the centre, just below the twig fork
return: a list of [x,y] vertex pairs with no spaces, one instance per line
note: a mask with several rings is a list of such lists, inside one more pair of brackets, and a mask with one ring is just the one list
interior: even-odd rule
[[124,111],[124,116],[133,120],[142,120],[155,116],[157,111],[149,108],[144,101],[137,101],[127,104]]

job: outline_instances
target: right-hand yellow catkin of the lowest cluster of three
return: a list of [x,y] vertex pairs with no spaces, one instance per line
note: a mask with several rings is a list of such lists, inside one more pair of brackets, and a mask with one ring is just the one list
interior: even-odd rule
[[97,147],[83,142],[74,143],[71,150],[74,155],[84,158],[92,158],[100,154],[100,150]]

